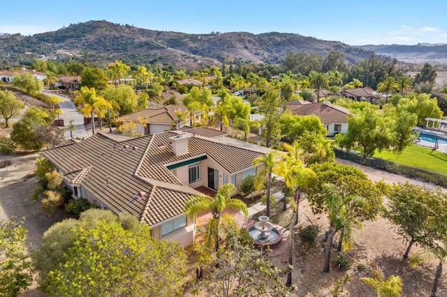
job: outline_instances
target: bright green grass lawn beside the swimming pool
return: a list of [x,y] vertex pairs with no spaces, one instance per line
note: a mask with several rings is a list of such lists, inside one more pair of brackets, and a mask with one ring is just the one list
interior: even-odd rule
[[447,154],[416,144],[407,146],[400,155],[391,151],[382,151],[375,153],[374,157],[447,175]]

